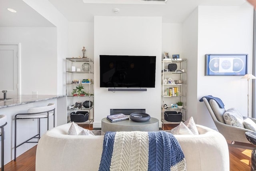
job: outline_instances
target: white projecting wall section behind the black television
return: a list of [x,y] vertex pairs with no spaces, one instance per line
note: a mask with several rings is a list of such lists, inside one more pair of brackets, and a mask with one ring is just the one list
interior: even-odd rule
[[[148,91],[108,91],[100,88],[99,55],[156,56],[156,87]],[[161,113],[161,17],[94,17],[94,124],[110,109],[140,108],[160,120]],[[161,125],[161,124],[160,124]]]

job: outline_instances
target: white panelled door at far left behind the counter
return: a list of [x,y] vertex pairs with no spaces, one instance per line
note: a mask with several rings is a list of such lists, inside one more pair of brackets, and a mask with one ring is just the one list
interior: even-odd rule
[[0,44],[0,98],[2,90],[7,90],[6,98],[19,95],[18,71],[18,44]]

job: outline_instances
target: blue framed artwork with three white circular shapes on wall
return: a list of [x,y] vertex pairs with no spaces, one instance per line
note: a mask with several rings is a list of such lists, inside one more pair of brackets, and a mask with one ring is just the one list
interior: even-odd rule
[[206,54],[205,76],[244,76],[248,54]]

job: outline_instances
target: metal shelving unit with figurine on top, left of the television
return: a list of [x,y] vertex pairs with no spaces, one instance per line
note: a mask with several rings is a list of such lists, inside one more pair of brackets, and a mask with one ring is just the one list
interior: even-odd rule
[[[84,63],[89,64],[88,71],[83,70],[82,65]],[[73,66],[73,68],[72,68]],[[68,122],[70,122],[70,113],[77,111],[88,111],[89,119],[85,122],[78,123],[86,123],[90,124],[94,121],[94,62],[90,58],[66,58],[66,95],[67,95],[67,117]],[[75,70],[74,70],[75,68]],[[73,70],[72,70],[73,69]],[[79,71],[80,69],[80,71]],[[89,82],[82,83],[83,79],[89,79]],[[80,83],[72,83],[73,80],[80,80]],[[76,89],[76,86],[82,85],[84,87],[84,91],[88,93],[88,95],[80,95],[74,96],[72,95],[72,90]],[[84,101],[92,101],[92,106],[88,108],[82,107],[81,109],[72,108],[71,105],[74,105],[76,102],[84,102]],[[89,103],[90,104],[90,103]]]

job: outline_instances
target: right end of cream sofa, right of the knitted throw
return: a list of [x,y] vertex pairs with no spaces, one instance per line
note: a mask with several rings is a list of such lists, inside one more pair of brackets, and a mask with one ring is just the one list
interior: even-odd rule
[[197,125],[197,128],[200,135],[174,135],[185,155],[187,170],[229,171],[226,139],[208,127]]

